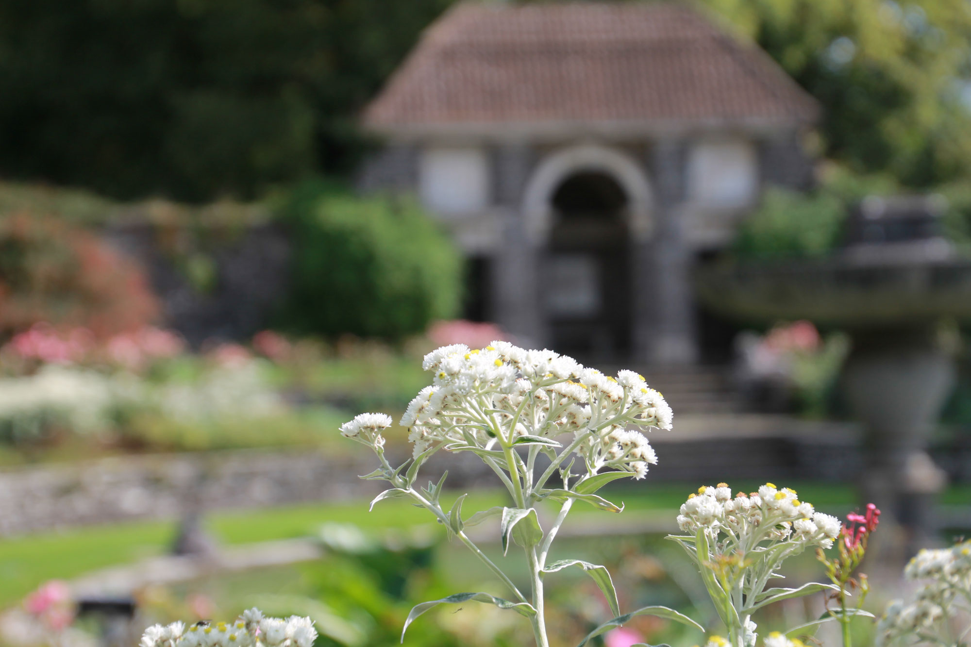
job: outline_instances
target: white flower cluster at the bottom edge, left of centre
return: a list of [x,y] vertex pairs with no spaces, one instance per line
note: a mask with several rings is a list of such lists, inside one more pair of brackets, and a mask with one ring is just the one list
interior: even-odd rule
[[317,630],[310,618],[265,618],[252,608],[231,624],[152,625],[139,647],[313,647],[315,640]]

